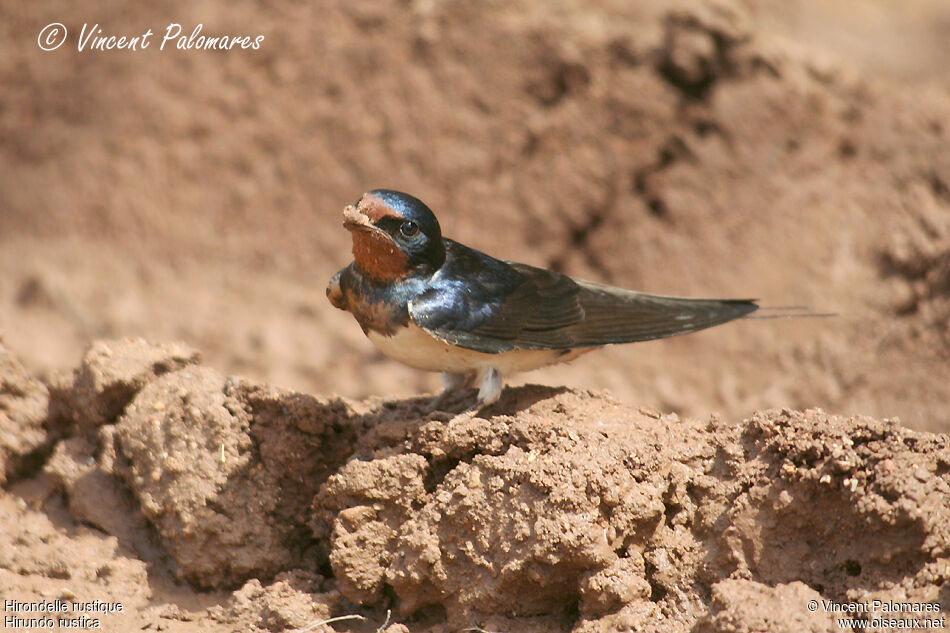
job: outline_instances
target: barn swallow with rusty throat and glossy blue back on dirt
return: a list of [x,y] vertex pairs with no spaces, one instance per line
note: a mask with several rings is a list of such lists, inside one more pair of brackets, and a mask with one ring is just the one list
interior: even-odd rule
[[442,237],[435,214],[376,189],[343,210],[354,261],[327,287],[386,356],[442,372],[445,393],[478,386],[494,403],[505,376],[617,343],[695,332],[745,317],[749,299],[645,294],[502,261]]

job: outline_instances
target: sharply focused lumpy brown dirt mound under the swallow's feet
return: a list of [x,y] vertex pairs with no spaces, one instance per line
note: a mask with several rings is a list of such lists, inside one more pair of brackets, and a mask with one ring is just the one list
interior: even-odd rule
[[[91,348],[59,397],[97,423],[74,420],[3,495],[5,595],[26,578],[85,599],[75,580],[128,605],[106,630],[183,631],[831,631],[810,600],[950,604],[945,435],[818,410],[696,421],[531,386],[480,416],[427,414],[193,358]],[[149,606],[173,578],[197,593]]]

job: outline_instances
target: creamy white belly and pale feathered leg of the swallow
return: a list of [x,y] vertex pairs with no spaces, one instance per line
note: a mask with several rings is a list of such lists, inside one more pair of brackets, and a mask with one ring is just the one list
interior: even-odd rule
[[[476,374],[481,379],[479,401],[489,404],[498,399],[505,376],[531,371],[555,363],[573,360],[595,348],[570,350],[515,350],[486,354],[441,341],[410,321],[392,336],[383,336],[372,330],[369,340],[383,354],[404,365],[424,371],[450,374]],[[489,370],[494,369],[494,372]]]

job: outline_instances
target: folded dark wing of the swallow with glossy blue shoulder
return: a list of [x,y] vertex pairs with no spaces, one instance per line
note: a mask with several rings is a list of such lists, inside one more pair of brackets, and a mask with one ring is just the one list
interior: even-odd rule
[[482,263],[488,270],[442,280],[413,299],[409,313],[416,325],[448,343],[500,353],[664,338],[758,308],[745,299],[650,295],[525,264]]

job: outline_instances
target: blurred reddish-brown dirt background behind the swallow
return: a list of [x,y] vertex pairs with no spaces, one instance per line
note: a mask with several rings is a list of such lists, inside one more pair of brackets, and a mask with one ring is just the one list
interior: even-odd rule
[[[688,6],[689,3],[686,3]],[[391,187],[499,257],[810,304],[530,374],[689,415],[821,406],[950,428],[946,3],[7,5],[0,327],[34,370],[184,340],[310,393],[434,391],[324,297]],[[51,53],[51,21],[72,38]],[[83,23],[266,36],[83,52]]]

